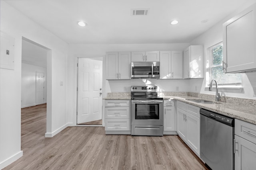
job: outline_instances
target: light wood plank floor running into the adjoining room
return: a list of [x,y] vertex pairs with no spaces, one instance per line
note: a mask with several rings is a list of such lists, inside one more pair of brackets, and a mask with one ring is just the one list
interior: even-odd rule
[[45,138],[46,105],[22,109],[23,156],[4,170],[204,170],[176,135],[105,135],[104,127],[67,127]]

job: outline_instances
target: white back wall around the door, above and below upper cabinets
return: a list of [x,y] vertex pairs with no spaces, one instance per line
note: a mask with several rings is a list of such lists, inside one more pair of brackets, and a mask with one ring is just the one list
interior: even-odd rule
[[[182,51],[189,43],[170,44],[71,44],[68,54],[68,122],[76,124],[76,57],[105,56],[107,51]],[[188,80],[148,80],[165,90],[188,91]],[[129,92],[132,85],[144,85],[143,80],[110,80],[106,81],[105,94],[108,92]],[[104,95],[105,95],[104,94]]]

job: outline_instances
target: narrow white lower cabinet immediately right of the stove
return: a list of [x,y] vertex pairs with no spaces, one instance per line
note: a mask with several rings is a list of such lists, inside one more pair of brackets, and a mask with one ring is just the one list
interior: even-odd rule
[[177,135],[173,100],[164,100],[164,135]]

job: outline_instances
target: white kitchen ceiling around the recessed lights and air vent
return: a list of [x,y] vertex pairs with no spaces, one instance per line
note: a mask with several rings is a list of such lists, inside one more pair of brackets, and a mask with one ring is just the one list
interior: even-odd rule
[[[189,43],[248,1],[6,0],[68,44]],[[148,16],[131,15],[141,8]],[[179,23],[170,25],[174,19]]]

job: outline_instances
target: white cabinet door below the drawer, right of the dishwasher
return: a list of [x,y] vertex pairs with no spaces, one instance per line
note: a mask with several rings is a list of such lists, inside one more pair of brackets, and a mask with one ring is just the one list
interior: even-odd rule
[[253,170],[256,167],[256,144],[235,135],[235,170]]

